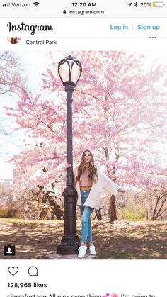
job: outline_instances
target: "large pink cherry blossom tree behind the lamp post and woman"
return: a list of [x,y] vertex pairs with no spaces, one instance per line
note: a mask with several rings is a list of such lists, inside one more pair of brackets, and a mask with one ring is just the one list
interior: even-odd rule
[[[83,65],[73,103],[76,164],[81,152],[90,149],[97,166],[117,184],[144,190],[163,185],[166,165],[160,147],[165,147],[167,131],[167,66],[153,61],[148,67],[146,57],[136,52],[71,55]],[[14,187],[19,191],[59,181],[66,162],[67,106],[57,74],[57,52],[46,59],[50,68],[42,74],[41,94],[34,96],[24,85],[16,86],[17,108],[8,108],[8,116],[15,116],[29,137],[25,150],[12,159]],[[110,220],[116,220],[115,196],[110,197]]]

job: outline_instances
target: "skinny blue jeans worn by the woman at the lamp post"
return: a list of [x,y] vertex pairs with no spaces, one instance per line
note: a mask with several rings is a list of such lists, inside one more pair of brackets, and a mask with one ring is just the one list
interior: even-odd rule
[[82,239],[81,242],[85,242],[88,239],[88,242],[92,242],[92,228],[91,228],[91,213],[94,208],[90,206],[84,206],[86,199],[88,198],[88,194],[91,190],[81,191],[81,201],[82,206],[80,206],[81,214],[82,214]]

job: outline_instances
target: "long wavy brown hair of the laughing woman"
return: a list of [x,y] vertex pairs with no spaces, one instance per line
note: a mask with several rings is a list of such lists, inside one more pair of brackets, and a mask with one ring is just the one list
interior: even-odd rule
[[93,155],[90,150],[85,150],[82,154],[81,163],[79,164],[79,167],[78,167],[78,175],[76,176],[76,181],[79,181],[81,175],[86,170],[86,163],[84,162],[84,157],[86,152],[89,152],[91,155],[91,160],[90,160],[90,163],[88,164],[88,171],[89,171],[88,179],[91,182],[96,182],[98,180],[98,174],[97,174],[97,169],[94,165]]

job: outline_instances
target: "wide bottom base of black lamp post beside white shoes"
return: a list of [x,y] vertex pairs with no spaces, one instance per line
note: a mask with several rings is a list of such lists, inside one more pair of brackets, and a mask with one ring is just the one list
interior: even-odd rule
[[57,254],[78,254],[80,245],[77,235],[64,235],[57,245]]

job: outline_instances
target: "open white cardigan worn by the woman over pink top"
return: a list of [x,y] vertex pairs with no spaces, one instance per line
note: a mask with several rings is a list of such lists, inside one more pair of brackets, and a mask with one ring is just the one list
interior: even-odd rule
[[[62,179],[65,179],[66,177],[65,170],[64,174],[62,174]],[[74,169],[74,177],[78,175],[78,167]],[[120,188],[120,186],[117,186],[111,179],[109,179],[107,176],[105,176],[100,170],[97,170],[98,175],[98,181],[93,182],[91,191],[88,194],[88,198],[86,199],[86,202],[84,203],[84,206],[90,206],[91,208],[99,209],[100,208],[100,197],[103,194],[103,189],[108,191],[110,194],[116,195],[117,190]],[[77,204],[79,206],[82,205],[81,203],[81,191],[79,186],[79,181],[75,182],[75,188],[78,194],[78,201]]]

